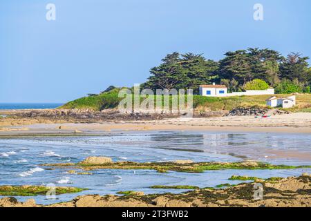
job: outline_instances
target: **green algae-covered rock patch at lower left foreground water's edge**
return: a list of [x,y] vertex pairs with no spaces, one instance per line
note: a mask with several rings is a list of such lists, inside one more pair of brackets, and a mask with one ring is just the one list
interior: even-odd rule
[[[64,193],[79,193],[86,189],[77,187],[55,187],[56,195]],[[46,195],[50,188],[46,186],[0,186],[0,195]]]

